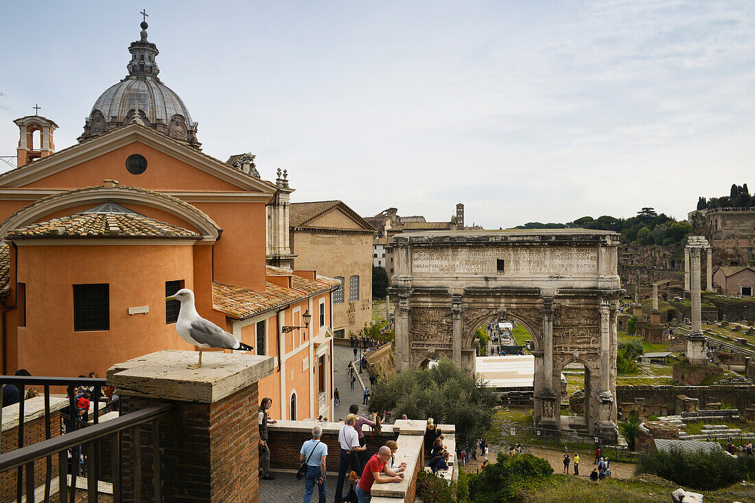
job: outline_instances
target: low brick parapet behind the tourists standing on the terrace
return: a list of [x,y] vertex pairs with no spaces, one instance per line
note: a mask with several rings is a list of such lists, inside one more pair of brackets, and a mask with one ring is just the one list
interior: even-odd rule
[[[393,433],[375,434],[371,437],[365,432],[367,437],[367,450],[370,455],[377,451],[380,446],[384,446],[387,440],[396,440]],[[298,470],[301,462],[299,461],[299,452],[301,445],[307,440],[312,439],[312,431],[291,431],[282,428],[268,427],[268,446],[270,446],[270,468],[273,470]],[[320,440],[328,445],[328,457],[325,458],[325,465],[328,471],[338,471],[338,463],[341,461],[341,445],[338,443],[338,431],[322,432]]]

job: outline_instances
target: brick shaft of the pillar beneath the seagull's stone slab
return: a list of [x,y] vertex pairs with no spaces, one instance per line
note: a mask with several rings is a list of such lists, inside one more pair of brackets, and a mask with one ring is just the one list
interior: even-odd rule
[[[186,403],[159,423],[165,501],[258,501],[257,383],[215,403]],[[156,400],[121,397],[121,413]],[[153,425],[140,430],[141,495],[134,488],[134,434],[122,434],[122,501],[153,501]]]

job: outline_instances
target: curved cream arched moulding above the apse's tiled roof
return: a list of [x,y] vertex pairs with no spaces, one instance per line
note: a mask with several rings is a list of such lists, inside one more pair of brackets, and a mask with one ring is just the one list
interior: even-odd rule
[[56,211],[85,204],[96,206],[106,201],[124,205],[138,204],[170,213],[196,228],[202,235],[202,241],[217,241],[223,233],[223,229],[209,216],[179,198],[137,187],[112,185],[75,189],[34,201],[0,224],[0,238],[5,238],[15,228],[29,225]]

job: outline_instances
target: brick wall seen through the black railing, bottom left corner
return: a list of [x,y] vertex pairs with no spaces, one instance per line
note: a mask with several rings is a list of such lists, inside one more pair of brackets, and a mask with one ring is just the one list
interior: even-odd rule
[[[60,411],[51,413],[51,436],[60,436]],[[45,416],[32,419],[24,424],[23,427],[23,445],[29,446],[32,443],[39,443],[45,440]],[[11,452],[18,447],[18,428],[10,428],[2,432],[2,453]],[[45,483],[45,474],[47,473],[47,461],[39,459],[34,462],[34,480],[35,487]],[[52,457],[52,478],[57,477],[57,455]],[[0,474],[0,501],[8,501],[16,495],[16,474],[17,470],[8,470]],[[26,474],[24,473],[22,488],[26,484]]]

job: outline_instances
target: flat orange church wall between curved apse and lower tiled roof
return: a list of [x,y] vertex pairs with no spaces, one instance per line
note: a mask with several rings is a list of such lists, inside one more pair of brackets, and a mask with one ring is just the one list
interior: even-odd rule
[[223,235],[213,246],[214,281],[265,290],[265,204],[194,203],[193,206],[223,229]]

